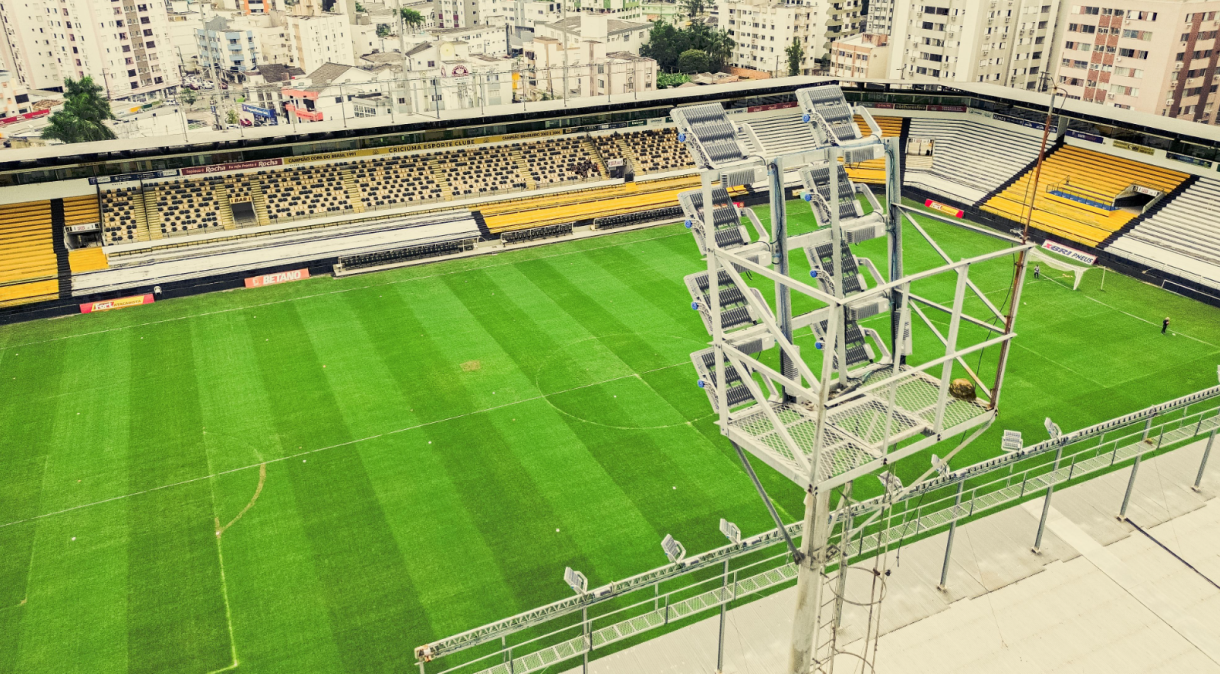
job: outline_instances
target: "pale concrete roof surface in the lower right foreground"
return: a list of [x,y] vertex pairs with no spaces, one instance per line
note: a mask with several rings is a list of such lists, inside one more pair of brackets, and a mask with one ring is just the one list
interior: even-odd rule
[[[936,585],[947,535],[891,553],[876,672],[1220,674],[1220,452],[1196,493],[1202,454],[1199,442],[1141,465],[1127,518],[1148,536],[1115,516],[1125,468],[1054,495],[1041,554],[1030,548],[1042,499],[959,527],[944,592]],[[849,597],[866,597],[869,575],[854,575]],[[726,673],[787,670],[793,603],[789,589],[728,613]],[[845,612],[839,637],[856,653],[861,611]],[[711,673],[717,630],[717,619],[704,620],[589,669]],[[853,658],[836,665],[861,672]]]

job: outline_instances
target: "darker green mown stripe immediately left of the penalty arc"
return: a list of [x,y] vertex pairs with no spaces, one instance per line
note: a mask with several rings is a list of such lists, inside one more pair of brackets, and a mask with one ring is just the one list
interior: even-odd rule
[[[138,339],[135,337],[143,337]],[[207,474],[189,325],[139,328],[131,352],[128,488]],[[129,672],[211,672],[229,664],[228,623],[206,481],[127,499]]]

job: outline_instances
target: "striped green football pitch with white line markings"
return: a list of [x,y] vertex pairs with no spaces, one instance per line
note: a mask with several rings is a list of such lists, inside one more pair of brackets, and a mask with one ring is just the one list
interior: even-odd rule
[[[927,227],[955,259],[1002,245]],[[908,271],[939,264],[905,237]],[[856,254],[884,269],[882,242]],[[972,274],[996,303],[1008,260]],[[666,534],[770,529],[695,386],[700,265],[672,225],[0,327],[0,674],[407,672],[569,596],[564,567],[599,585],[664,564]],[[1220,310],[1043,272],[1000,420],[955,464],[1215,383]]]

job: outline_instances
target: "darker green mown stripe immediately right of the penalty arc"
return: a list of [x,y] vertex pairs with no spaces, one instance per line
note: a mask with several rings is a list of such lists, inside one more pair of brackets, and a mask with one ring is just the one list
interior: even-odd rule
[[[257,316],[250,336],[284,452],[351,440],[296,308],[264,308]],[[272,335],[281,338],[268,342]],[[427,632],[427,618],[360,453],[339,447],[285,466],[344,668],[410,668],[412,646],[403,635]]]

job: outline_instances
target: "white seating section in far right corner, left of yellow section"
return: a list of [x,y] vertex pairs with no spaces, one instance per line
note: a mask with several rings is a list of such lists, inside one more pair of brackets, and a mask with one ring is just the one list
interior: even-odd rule
[[967,205],[1038,158],[1038,138],[969,120],[915,117],[909,138],[931,138],[935,149],[931,168],[908,165],[906,184]]

